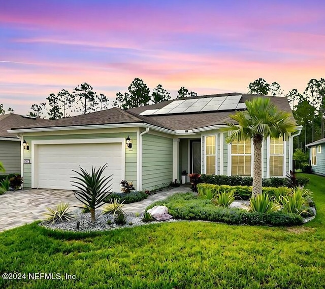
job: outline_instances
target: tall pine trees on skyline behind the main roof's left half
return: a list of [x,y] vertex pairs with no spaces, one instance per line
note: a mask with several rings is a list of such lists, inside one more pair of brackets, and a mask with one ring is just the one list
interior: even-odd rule
[[[197,93],[181,87],[178,90],[177,98],[186,96],[197,96]],[[158,84],[150,93],[150,89],[144,81],[135,78],[128,86],[127,92],[116,93],[111,107],[127,110],[170,99],[170,93],[161,84]],[[50,93],[46,100],[46,102],[32,104],[27,116],[45,118],[48,115],[49,119],[54,120],[106,110],[110,106],[108,97],[103,93],[96,93],[88,83],[78,85],[72,92],[61,89],[57,94]]]

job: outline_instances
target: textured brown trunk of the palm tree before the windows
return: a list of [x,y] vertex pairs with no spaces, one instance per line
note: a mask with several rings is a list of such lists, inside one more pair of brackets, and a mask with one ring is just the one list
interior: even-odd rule
[[262,140],[263,136],[257,134],[253,138],[254,165],[253,165],[253,192],[252,198],[262,195]]

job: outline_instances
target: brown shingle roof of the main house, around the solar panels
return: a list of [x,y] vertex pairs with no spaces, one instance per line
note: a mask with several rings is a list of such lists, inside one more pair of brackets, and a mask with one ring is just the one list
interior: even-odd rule
[[[246,100],[257,97],[257,95],[242,94],[242,93],[225,93],[225,94],[213,94],[203,95],[192,98],[204,98],[204,97],[221,97],[227,95],[242,95],[240,103]],[[268,96],[262,96],[268,97]],[[186,98],[184,98],[186,99]],[[282,111],[291,112],[289,103],[285,97],[270,97],[271,101],[278,106]],[[234,111],[218,111],[218,112],[204,112],[204,113],[188,113],[188,114],[174,114],[174,115],[150,115],[141,116],[140,114],[146,110],[160,109],[170,102],[164,101],[157,104],[144,105],[123,111],[117,107],[110,110],[90,113],[86,115],[79,115],[75,117],[52,120],[47,123],[37,123],[23,128],[45,128],[45,127],[66,127],[66,126],[83,126],[83,125],[101,125],[101,124],[121,124],[121,123],[148,123],[158,127],[163,127],[171,130],[189,130],[202,128],[212,125],[221,125],[231,121],[229,117]],[[15,127],[22,128],[22,127]]]

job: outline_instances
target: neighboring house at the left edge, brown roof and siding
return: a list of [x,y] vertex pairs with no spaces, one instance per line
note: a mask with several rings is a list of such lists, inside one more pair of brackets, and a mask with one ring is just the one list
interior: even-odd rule
[[5,174],[20,173],[22,151],[20,138],[8,133],[7,130],[12,127],[32,125],[43,121],[46,120],[16,114],[0,116],[0,161],[6,169]]

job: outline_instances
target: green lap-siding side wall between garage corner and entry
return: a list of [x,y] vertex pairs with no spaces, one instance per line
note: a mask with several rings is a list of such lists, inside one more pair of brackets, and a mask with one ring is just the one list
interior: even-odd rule
[[142,188],[161,187],[173,179],[173,139],[144,134],[142,147]]

